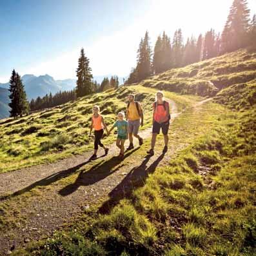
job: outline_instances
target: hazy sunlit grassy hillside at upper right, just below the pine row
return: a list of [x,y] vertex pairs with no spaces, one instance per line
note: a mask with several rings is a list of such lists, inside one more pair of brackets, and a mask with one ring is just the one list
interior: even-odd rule
[[179,94],[214,96],[234,84],[247,84],[256,77],[256,52],[231,54],[175,68],[144,80],[141,84]]

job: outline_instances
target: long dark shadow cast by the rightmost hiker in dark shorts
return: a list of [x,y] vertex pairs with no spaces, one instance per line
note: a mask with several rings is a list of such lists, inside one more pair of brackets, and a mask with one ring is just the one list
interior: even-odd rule
[[111,210],[124,198],[130,198],[133,190],[143,186],[148,178],[150,173],[155,172],[155,168],[159,162],[164,158],[165,153],[162,153],[155,159],[148,168],[146,168],[146,164],[150,160],[150,155],[146,156],[144,161],[137,167],[133,168],[126,177],[124,177],[123,181],[119,183],[108,195],[110,199],[104,202],[102,206],[99,208],[99,213],[108,214]]

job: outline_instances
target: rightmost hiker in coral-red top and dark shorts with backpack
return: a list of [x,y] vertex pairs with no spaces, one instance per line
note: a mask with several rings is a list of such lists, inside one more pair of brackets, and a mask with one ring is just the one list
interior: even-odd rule
[[155,141],[157,139],[157,134],[159,134],[162,129],[162,134],[164,135],[164,148],[162,153],[168,150],[168,130],[170,126],[170,106],[167,101],[164,101],[164,95],[162,92],[157,92],[156,101],[153,103],[153,128],[152,128],[152,140],[151,149],[147,152],[150,155],[154,154]]

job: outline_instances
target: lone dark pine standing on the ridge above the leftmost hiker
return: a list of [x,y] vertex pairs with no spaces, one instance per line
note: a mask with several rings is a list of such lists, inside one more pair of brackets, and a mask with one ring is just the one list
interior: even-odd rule
[[84,55],[84,49],[82,48],[77,68],[77,97],[92,94],[93,76],[91,74],[92,69],[90,68],[89,63],[89,59]]

